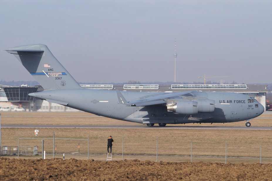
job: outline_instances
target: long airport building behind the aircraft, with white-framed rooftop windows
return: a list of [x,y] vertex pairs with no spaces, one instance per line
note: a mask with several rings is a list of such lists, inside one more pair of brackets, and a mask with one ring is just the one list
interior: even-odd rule
[[[267,85],[246,84],[125,84],[125,85],[80,85],[86,89],[106,89],[136,92],[236,92],[254,97],[266,107]],[[29,93],[43,91],[41,86],[21,85],[18,87],[0,85],[0,111],[78,111],[66,106],[29,96]],[[16,109],[22,107],[23,109]]]

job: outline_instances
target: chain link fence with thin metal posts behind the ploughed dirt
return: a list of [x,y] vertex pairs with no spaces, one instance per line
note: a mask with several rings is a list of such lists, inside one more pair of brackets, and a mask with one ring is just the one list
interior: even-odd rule
[[[41,155],[41,140],[44,140],[46,158],[62,158],[62,154],[65,153],[70,155],[70,158],[106,160],[107,137],[91,136],[89,134],[88,131],[82,131],[78,132],[76,137],[56,135],[54,138],[52,133],[52,136],[46,138],[28,138],[25,137],[27,134],[21,133],[17,137],[17,142],[19,147],[38,145],[37,153]],[[272,163],[272,143],[270,141],[248,139],[242,141],[231,139],[218,141],[212,138],[189,140],[180,136],[165,137],[163,135],[115,135],[113,139],[113,160]],[[14,140],[16,139],[14,138]],[[6,146],[9,145],[6,144]],[[6,151],[6,147],[2,147],[2,153],[3,149]],[[19,154],[27,155],[23,152]]]

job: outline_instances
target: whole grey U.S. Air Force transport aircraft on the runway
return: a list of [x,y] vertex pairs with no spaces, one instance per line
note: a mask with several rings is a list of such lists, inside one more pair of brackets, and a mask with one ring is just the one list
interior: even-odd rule
[[228,123],[261,115],[253,97],[233,92],[128,92],[82,88],[46,45],[23,45],[8,53],[23,64],[44,88],[30,96],[92,114],[147,126],[185,123]]

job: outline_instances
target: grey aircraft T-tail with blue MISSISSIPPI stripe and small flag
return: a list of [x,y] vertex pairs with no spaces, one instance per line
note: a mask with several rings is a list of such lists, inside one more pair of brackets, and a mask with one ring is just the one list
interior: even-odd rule
[[23,45],[6,49],[46,89],[82,88],[46,45]]

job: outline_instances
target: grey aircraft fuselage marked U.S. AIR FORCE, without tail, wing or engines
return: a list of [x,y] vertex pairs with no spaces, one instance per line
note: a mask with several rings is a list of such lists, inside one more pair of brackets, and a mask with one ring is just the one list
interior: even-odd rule
[[[225,123],[252,119],[263,113],[263,106],[244,94],[229,92],[193,91],[197,97],[215,101],[213,112],[177,114],[167,110],[167,105],[128,106],[120,104],[116,91],[93,89],[60,89],[33,93],[32,96],[71,108],[113,119],[137,123]],[[164,92],[121,91],[127,101],[141,99]],[[54,100],[54,101],[52,101]]]

